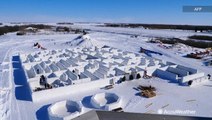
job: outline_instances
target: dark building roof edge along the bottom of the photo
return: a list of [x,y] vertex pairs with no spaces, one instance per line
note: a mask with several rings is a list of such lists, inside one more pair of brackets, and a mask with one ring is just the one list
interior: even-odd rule
[[164,114],[90,111],[73,120],[211,120],[211,118]]

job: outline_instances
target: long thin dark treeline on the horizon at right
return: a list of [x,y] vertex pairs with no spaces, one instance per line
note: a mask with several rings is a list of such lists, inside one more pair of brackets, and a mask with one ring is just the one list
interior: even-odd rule
[[105,23],[106,27],[130,27],[130,28],[148,28],[148,29],[176,29],[176,30],[194,30],[194,31],[211,31],[212,26],[197,25],[172,25],[172,24],[125,24],[125,23]]

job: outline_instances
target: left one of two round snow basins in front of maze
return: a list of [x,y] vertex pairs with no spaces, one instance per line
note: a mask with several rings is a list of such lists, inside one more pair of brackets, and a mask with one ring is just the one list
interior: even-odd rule
[[72,100],[56,102],[48,107],[50,120],[70,120],[82,112],[82,103]]

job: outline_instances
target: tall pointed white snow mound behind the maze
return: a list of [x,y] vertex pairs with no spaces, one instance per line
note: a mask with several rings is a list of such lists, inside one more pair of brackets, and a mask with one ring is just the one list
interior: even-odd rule
[[65,44],[69,44],[74,47],[83,47],[83,48],[91,48],[94,46],[89,35],[78,36],[74,40],[70,42],[66,42]]

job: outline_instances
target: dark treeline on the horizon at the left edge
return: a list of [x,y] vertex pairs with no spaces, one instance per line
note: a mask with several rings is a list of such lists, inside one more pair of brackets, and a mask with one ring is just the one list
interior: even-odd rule
[[49,25],[43,25],[43,24],[31,24],[31,25],[15,25],[15,26],[3,26],[0,27],[0,35],[4,35],[9,32],[17,32],[24,30],[25,28],[33,27],[37,29],[49,29],[52,26]]

